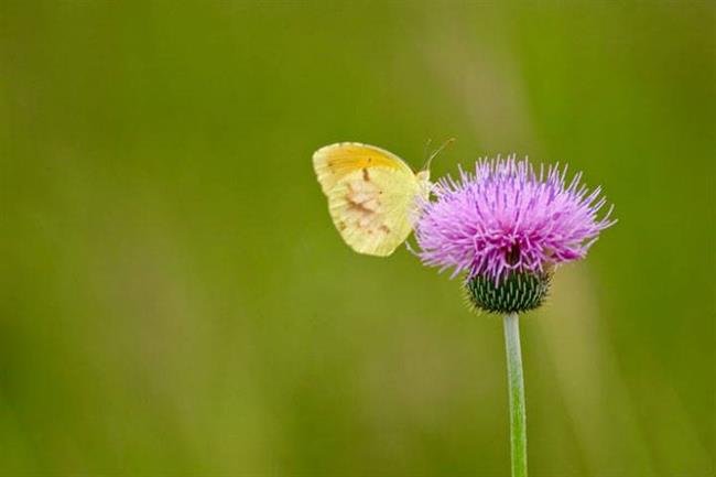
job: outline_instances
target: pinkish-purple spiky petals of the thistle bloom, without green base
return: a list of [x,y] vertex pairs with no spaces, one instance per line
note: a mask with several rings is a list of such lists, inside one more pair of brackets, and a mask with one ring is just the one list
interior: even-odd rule
[[[434,202],[420,205],[416,252],[423,263],[466,272],[499,284],[513,272],[547,272],[552,265],[582,259],[599,232],[616,223],[600,187],[589,192],[567,167],[527,159],[480,159],[475,174],[460,169],[459,181],[441,180]],[[614,206],[612,206],[614,207]]]

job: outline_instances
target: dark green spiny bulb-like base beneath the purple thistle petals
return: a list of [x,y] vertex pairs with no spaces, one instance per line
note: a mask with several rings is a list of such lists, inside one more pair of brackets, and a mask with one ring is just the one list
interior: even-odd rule
[[496,285],[491,277],[476,275],[465,283],[470,305],[489,313],[522,313],[539,307],[547,294],[549,272],[513,272]]

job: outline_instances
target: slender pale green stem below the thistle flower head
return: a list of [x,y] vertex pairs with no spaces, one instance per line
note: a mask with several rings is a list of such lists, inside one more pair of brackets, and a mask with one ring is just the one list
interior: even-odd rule
[[520,350],[520,322],[517,313],[505,317],[507,379],[510,393],[510,447],[512,477],[527,477],[527,418],[524,413],[524,381]]

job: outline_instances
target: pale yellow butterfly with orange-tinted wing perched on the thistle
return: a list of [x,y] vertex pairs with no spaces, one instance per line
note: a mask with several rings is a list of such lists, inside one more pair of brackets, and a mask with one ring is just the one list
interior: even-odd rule
[[330,217],[350,248],[387,257],[408,238],[416,200],[430,195],[427,167],[437,152],[417,173],[395,154],[359,142],[326,145],[313,154]]

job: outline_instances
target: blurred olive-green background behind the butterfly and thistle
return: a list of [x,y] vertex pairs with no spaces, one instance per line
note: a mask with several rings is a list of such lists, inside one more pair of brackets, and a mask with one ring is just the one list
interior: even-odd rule
[[714,475],[712,2],[0,3],[0,475],[505,476],[501,323],[351,252],[311,154],[568,162],[533,476]]

